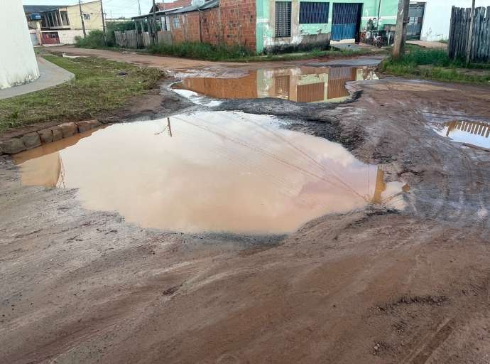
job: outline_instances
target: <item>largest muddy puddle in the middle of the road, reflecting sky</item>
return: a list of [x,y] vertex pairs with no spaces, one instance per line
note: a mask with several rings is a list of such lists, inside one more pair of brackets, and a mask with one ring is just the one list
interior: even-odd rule
[[85,208],[182,232],[292,232],[326,213],[403,203],[401,183],[340,144],[241,112],[114,124],[14,160],[23,185],[79,188]]

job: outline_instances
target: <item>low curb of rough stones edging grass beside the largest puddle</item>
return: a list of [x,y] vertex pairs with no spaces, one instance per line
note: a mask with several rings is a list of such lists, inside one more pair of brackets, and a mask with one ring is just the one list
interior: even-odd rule
[[42,144],[52,143],[72,135],[87,132],[87,130],[102,127],[104,124],[118,122],[113,118],[82,120],[81,122],[65,122],[55,127],[38,130],[37,132],[28,132],[19,137],[0,141],[1,154],[16,154],[21,151],[36,148]]

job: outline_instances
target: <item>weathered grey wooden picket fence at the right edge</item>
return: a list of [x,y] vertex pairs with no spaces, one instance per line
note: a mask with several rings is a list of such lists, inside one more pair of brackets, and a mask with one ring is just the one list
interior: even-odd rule
[[[466,58],[471,16],[471,8],[452,6],[447,47],[450,58]],[[471,45],[470,60],[490,60],[490,6],[474,9]]]

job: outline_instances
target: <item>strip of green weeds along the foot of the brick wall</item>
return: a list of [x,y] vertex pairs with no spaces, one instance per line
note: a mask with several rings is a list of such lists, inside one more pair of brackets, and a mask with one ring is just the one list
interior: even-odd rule
[[151,45],[148,52],[162,55],[175,55],[176,57],[197,58],[202,60],[227,60],[252,55],[239,45],[212,45],[209,43],[187,42],[178,44],[160,43]]

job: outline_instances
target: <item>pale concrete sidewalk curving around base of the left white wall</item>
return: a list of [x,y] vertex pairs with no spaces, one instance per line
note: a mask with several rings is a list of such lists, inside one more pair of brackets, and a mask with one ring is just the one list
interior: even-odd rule
[[75,78],[73,73],[48,62],[44,58],[37,57],[37,59],[40,72],[39,78],[36,81],[28,82],[24,85],[0,90],[0,100],[28,94],[29,92],[45,90],[46,88],[58,86]]

